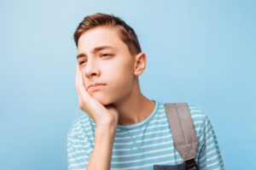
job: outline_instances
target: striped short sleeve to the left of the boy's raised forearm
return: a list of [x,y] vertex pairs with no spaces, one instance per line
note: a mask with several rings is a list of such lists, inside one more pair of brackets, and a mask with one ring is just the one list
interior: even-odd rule
[[[88,133],[89,132],[89,133]],[[76,122],[67,134],[68,170],[85,170],[90,159],[91,143],[90,123]]]

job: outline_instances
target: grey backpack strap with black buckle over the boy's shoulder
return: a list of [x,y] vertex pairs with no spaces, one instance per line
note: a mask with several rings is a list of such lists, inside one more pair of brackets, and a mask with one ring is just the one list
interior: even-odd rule
[[186,169],[198,169],[195,162],[197,137],[187,103],[166,103],[166,116],[171,127],[174,146],[185,161]]

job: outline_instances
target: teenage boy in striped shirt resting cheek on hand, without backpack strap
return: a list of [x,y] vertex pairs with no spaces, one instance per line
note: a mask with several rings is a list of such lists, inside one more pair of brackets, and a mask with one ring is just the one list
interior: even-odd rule
[[[146,54],[135,31],[113,14],[86,16],[74,32],[78,49],[79,117],[67,137],[69,169],[153,169],[183,163],[173,144],[164,103],[141,92]],[[189,105],[199,169],[224,169],[212,124]],[[167,168],[166,168],[167,169]]]

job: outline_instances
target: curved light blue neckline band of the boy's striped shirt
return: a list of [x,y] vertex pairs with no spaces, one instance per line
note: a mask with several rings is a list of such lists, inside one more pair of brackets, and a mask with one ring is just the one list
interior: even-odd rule
[[154,103],[155,103],[154,110],[142,122],[132,123],[132,124],[128,124],[128,125],[118,124],[117,127],[121,128],[121,129],[133,129],[133,128],[137,128],[137,127],[142,127],[145,123],[147,123],[154,116],[154,113],[157,111],[159,103],[157,101],[155,101],[154,99],[152,99],[152,101],[154,101]]

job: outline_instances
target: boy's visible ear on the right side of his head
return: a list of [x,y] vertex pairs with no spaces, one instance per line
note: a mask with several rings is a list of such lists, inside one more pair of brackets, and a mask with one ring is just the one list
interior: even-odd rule
[[147,63],[147,57],[146,54],[143,52],[137,54],[135,56],[135,62],[134,62],[134,75],[139,76],[143,74],[143,71],[145,70]]

